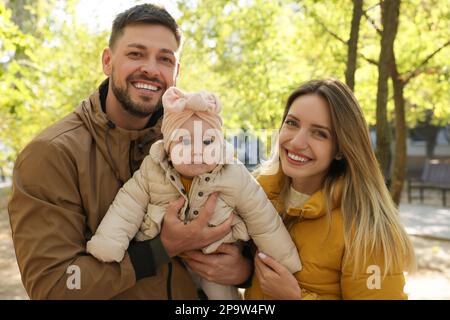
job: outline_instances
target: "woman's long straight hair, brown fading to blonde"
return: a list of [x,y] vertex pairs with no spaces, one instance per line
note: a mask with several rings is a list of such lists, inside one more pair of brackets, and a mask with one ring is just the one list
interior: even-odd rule
[[[341,210],[347,251],[344,263],[350,260],[354,263],[355,275],[365,268],[369,257],[381,254],[384,274],[394,267],[412,271],[415,267],[414,249],[384,183],[358,101],[347,85],[339,80],[309,81],[288,98],[282,125],[292,103],[306,94],[316,94],[328,102],[333,140],[337,144],[337,153],[342,155],[341,160],[331,163],[323,190],[330,217],[333,187],[338,179],[343,181]],[[273,157],[259,172],[273,174],[278,166],[279,146],[276,146]],[[286,189],[286,183],[283,189]]]

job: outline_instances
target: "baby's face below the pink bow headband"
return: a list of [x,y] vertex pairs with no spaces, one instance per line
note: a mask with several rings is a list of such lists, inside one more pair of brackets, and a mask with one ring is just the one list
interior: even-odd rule
[[193,178],[211,172],[217,166],[221,152],[220,132],[197,116],[192,116],[174,133],[170,144],[170,158],[175,170]]

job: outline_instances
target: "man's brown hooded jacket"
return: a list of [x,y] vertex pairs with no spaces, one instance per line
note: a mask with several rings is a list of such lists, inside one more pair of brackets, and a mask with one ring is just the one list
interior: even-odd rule
[[[8,210],[28,295],[167,299],[170,287],[174,299],[196,299],[190,275],[176,260],[136,282],[128,254],[121,263],[101,263],[86,253],[86,242],[121,187],[119,180],[131,178],[150,144],[161,138],[160,121],[141,131],[107,123],[97,91],[36,137],[15,163]],[[81,289],[67,286],[75,275],[70,266],[79,267]]]

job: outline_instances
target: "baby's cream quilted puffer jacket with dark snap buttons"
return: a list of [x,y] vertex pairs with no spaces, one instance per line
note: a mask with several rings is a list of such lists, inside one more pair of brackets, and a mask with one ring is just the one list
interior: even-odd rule
[[232,212],[232,231],[225,238],[203,248],[214,252],[222,243],[253,239],[256,246],[286,266],[290,272],[301,270],[300,258],[283,221],[264,190],[245,166],[219,164],[210,173],[194,177],[188,195],[180,175],[169,164],[163,141],[155,142],[141,168],[124,184],[108,209],[87,251],[105,262],[121,261],[133,237],[138,241],[154,238],[161,230],[168,204],[181,196],[185,204],[179,218],[195,219],[211,193],[219,196],[211,225],[224,222]]

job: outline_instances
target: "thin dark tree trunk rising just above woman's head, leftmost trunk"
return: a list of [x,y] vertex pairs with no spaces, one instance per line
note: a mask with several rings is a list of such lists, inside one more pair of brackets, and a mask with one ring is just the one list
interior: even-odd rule
[[363,13],[363,0],[353,0],[353,17],[348,40],[347,67],[345,70],[345,83],[355,91],[356,55],[358,52],[359,24]]

